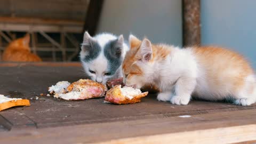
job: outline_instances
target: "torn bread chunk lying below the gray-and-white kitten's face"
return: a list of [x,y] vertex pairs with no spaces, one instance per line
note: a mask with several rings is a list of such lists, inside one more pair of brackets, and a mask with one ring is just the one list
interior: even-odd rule
[[[79,81],[71,83],[67,87],[65,86],[59,86],[62,89],[59,91],[59,93],[54,93],[55,98],[61,98],[65,100],[102,98],[105,96],[107,91],[107,87],[105,85],[94,82],[90,79],[79,79]],[[49,91],[50,90],[52,89],[49,89]]]

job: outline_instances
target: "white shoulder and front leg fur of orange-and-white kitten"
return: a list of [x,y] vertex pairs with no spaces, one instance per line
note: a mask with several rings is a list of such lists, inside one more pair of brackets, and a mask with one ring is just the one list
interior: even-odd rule
[[[194,56],[186,49],[173,47],[170,57],[161,63],[155,63],[161,79],[155,79],[163,93],[172,92],[169,101],[176,105],[187,105],[191,93],[196,86],[197,63]],[[158,94],[158,100],[162,100],[162,93]],[[165,99],[164,99],[165,100]]]

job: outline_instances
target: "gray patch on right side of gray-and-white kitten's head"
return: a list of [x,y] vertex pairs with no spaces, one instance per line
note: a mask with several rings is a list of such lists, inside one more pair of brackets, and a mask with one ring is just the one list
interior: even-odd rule
[[108,60],[108,71],[111,75],[116,73],[116,70],[122,63],[123,47],[116,47],[118,39],[108,42],[104,47],[104,55]]

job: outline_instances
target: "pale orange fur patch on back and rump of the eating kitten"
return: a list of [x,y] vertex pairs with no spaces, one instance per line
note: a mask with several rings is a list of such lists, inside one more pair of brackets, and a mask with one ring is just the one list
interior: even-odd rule
[[[206,77],[211,79],[214,85],[221,87],[225,82],[229,82],[234,84],[233,91],[239,91],[245,83],[244,79],[253,75],[249,62],[234,51],[214,46],[193,47],[191,50],[201,66],[208,69]],[[224,75],[223,71],[228,70],[235,70],[236,72],[229,73],[229,76]],[[221,77],[221,81],[219,77]],[[254,87],[253,85],[251,87],[250,91],[252,92]]]

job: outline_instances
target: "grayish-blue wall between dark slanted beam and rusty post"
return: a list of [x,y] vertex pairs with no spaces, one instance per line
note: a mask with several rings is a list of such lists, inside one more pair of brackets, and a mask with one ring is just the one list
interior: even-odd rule
[[102,9],[98,32],[130,33],[154,43],[182,46],[180,0],[107,0]]

